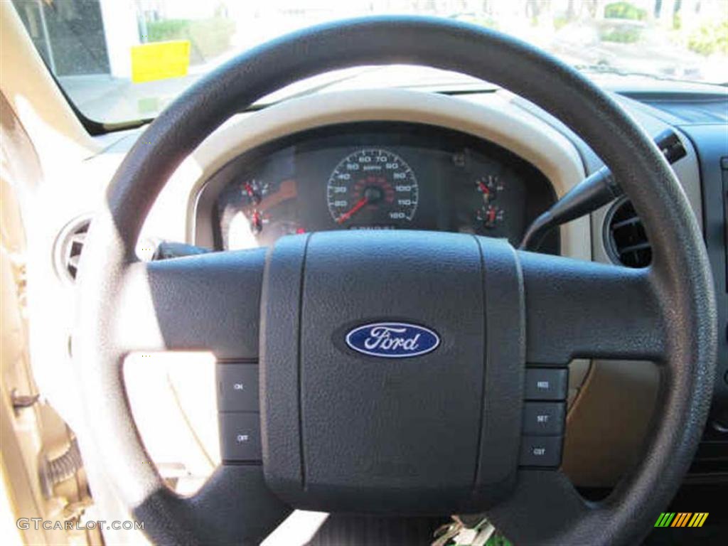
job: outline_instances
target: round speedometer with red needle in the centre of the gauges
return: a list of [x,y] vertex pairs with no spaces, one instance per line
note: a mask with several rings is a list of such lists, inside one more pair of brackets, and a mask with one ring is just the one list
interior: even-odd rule
[[412,221],[419,201],[414,172],[397,154],[362,149],[341,159],[326,187],[339,225],[387,228]]

